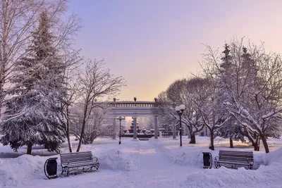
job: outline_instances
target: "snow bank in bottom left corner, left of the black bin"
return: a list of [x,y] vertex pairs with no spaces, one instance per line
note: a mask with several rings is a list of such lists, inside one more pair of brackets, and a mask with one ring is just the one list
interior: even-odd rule
[[25,184],[35,177],[44,178],[44,158],[23,155],[3,160],[0,158],[0,187]]

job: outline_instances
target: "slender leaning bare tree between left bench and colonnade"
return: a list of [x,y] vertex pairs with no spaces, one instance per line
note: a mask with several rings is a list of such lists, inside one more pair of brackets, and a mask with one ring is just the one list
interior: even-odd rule
[[[80,138],[85,135],[85,125],[88,118],[92,113],[95,103],[95,99],[102,99],[106,96],[116,94],[121,90],[121,87],[125,85],[122,77],[114,77],[110,74],[109,69],[104,68],[104,60],[102,61],[90,61],[86,62],[85,73],[80,76],[80,100],[83,104],[83,118],[82,129]],[[80,151],[82,139],[78,144],[77,152]]]

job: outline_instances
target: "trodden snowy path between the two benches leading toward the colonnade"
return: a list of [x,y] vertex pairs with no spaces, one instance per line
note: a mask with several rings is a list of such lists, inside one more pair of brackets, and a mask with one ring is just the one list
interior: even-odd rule
[[[135,171],[100,169],[97,173],[83,173],[55,180],[35,180],[25,187],[180,187],[189,173],[202,170],[175,165],[164,146],[159,143],[136,142],[133,148],[121,149],[124,155],[137,162]],[[59,169],[60,171],[60,169]]]

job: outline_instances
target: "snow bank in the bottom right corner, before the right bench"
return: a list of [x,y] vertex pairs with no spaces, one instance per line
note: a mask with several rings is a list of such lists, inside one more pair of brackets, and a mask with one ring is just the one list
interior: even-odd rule
[[258,170],[238,168],[232,170],[225,167],[207,169],[188,175],[183,187],[281,187],[282,165],[272,163],[262,165]]

